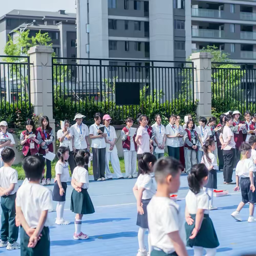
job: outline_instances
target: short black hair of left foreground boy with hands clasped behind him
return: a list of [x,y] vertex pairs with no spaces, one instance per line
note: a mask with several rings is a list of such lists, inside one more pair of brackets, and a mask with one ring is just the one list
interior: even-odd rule
[[45,166],[45,159],[39,156],[28,156],[23,161],[23,169],[29,180],[40,180]]

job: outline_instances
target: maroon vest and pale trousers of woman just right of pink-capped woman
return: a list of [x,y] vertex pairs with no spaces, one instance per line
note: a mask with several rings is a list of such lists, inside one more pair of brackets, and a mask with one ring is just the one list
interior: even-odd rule
[[124,166],[125,166],[125,177],[135,178],[137,177],[137,143],[135,143],[134,134],[133,137],[127,136],[126,133],[129,132],[127,126],[121,131],[121,139],[124,150]]

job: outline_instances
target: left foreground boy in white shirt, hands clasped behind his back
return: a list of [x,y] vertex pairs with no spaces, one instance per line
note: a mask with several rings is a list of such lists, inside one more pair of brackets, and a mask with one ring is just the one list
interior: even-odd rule
[[44,159],[29,156],[23,161],[29,182],[23,184],[16,198],[17,217],[21,222],[21,255],[50,256],[50,236],[47,218],[52,209],[51,191],[40,181],[44,175]]

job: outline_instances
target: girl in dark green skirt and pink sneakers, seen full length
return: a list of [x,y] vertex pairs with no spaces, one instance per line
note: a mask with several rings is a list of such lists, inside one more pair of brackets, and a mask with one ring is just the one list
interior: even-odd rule
[[74,169],[71,185],[74,188],[71,195],[70,209],[76,213],[74,239],[88,239],[89,236],[81,231],[82,218],[84,214],[94,213],[91,198],[87,192],[89,188],[89,174],[85,169],[88,165],[90,153],[83,149],[79,150],[75,156],[77,166]]

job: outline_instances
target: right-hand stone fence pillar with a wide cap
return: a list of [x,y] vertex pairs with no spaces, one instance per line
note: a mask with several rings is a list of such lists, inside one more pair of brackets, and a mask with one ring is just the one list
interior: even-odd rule
[[212,54],[209,52],[192,53],[194,63],[194,99],[198,101],[196,115],[210,117],[212,113]]

